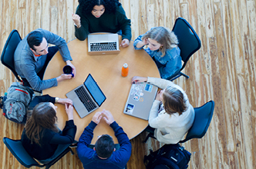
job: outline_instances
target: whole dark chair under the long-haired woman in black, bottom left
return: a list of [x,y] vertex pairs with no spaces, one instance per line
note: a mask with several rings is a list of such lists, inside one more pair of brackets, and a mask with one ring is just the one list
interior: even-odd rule
[[64,155],[66,155],[69,151],[71,151],[72,154],[73,151],[69,147],[69,144],[59,144],[59,147],[57,148],[55,154],[52,155],[49,159],[39,161],[42,164],[39,164],[37,161],[35,161],[34,158],[32,158],[27,151],[25,151],[25,148],[22,146],[21,140],[12,140],[10,138],[3,138],[3,141],[8,147],[9,151],[15,156],[15,158],[19,161],[20,164],[22,164],[25,167],[45,167],[45,169],[48,169],[53,164],[55,164],[57,161],[59,161],[60,158],[62,158]]

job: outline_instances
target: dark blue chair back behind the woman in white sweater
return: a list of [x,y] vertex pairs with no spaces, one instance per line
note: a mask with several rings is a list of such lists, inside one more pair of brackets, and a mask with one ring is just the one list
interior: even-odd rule
[[179,143],[184,143],[192,138],[203,138],[206,133],[210,123],[211,118],[214,114],[214,101],[208,101],[206,104],[199,108],[194,108],[194,122],[189,131],[187,131],[187,136],[183,141]]

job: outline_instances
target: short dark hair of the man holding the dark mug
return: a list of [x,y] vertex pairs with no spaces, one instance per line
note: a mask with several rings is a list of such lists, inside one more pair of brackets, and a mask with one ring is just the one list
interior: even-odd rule
[[41,31],[32,31],[29,33],[27,38],[29,48],[32,48],[35,51],[34,46],[39,46],[42,43],[42,32]]

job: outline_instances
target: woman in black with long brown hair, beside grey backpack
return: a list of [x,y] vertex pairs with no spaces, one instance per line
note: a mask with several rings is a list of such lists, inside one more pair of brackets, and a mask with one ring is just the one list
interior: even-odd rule
[[[52,98],[50,98],[52,100]],[[59,99],[60,100],[60,99]],[[45,160],[55,153],[60,144],[72,144],[76,135],[73,121],[72,101],[68,98],[65,104],[68,121],[63,131],[56,126],[56,106],[52,102],[41,102],[33,108],[32,116],[25,124],[22,132],[22,145],[31,157]]]

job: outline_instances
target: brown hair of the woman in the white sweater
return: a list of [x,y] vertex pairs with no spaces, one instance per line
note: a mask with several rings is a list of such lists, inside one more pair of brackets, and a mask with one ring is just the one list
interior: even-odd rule
[[177,88],[171,86],[163,91],[163,106],[168,114],[178,113],[182,114],[187,110],[184,94]]

